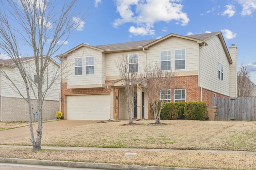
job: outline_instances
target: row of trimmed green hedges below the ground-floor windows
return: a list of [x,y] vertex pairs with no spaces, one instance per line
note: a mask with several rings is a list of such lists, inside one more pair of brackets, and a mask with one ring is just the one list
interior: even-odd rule
[[[160,107],[160,102],[158,104]],[[154,111],[150,104],[150,113],[154,116]],[[166,102],[161,110],[161,120],[176,120],[177,118],[188,120],[204,120],[206,117],[205,102]]]

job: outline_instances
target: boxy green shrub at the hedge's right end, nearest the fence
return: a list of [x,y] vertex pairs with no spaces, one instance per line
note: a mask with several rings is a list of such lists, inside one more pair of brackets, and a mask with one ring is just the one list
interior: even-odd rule
[[186,102],[184,116],[188,120],[204,120],[206,117],[205,102]]

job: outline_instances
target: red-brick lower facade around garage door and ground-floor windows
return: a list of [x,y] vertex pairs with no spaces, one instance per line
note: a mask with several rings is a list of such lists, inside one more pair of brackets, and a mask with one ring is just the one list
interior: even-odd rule
[[[106,81],[106,84],[112,82],[113,80]],[[193,76],[177,76],[174,78],[174,83],[171,86],[171,101],[174,102],[174,90],[175,89],[186,89],[186,102],[200,101],[200,87],[198,86],[198,75]],[[61,98],[64,99],[64,95],[80,95],[80,94],[110,94],[108,88],[101,89],[68,89],[67,83],[61,83]],[[114,113],[116,119],[119,117],[119,90],[115,88],[114,92]],[[202,88],[202,101],[206,102],[206,106],[212,106],[212,97],[214,97],[214,92]],[[222,94],[216,93],[216,97],[228,97]],[[148,110],[150,110],[150,105],[148,105]],[[64,101],[61,102],[61,111],[64,113]],[[64,114],[65,115],[65,114]],[[148,113],[148,119],[154,119],[154,117]]]

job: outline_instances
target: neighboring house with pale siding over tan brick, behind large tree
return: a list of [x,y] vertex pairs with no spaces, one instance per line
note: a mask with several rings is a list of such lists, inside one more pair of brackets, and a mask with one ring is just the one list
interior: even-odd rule
[[[34,65],[34,57],[24,57],[21,58],[24,67],[30,69],[30,76],[33,80],[37,81],[36,72],[31,69]],[[3,60],[0,59],[0,66],[2,70],[10,77],[18,87],[19,91],[26,98],[26,87],[24,81],[20,75],[18,67],[14,64],[12,59]],[[44,81],[47,81],[47,77],[51,76],[52,71],[60,69],[58,63],[54,60],[50,62],[48,66],[48,74],[44,76]],[[50,90],[47,93],[47,96],[43,104],[43,120],[55,119],[56,111],[59,110],[59,94],[60,94],[60,81],[53,84]],[[31,109],[34,111],[37,110],[37,102],[34,98],[34,94],[30,89],[30,99],[31,99]],[[32,115],[32,120],[34,121],[35,115]],[[10,80],[6,79],[0,73],[0,119],[1,121],[29,121],[29,112],[28,112],[28,103],[18,94],[16,88],[12,85]]]

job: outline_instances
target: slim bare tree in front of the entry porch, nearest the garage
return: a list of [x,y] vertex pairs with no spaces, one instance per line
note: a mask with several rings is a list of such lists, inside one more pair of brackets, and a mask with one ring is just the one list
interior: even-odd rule
[[134,90],[136,89],[136,79],[138,73],[138,55],[122,55],[116,62],[119,75],[124,86],[124,92],[119,96],[119,102],[128,111],[129,124],[132,124],[132,116],[134,113]]

